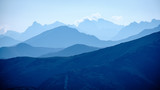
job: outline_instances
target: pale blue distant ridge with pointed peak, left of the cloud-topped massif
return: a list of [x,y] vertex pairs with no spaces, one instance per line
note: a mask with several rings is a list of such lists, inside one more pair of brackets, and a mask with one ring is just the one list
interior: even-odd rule
[[10,36],[16,40],[20,40],[20,41],[25,41],[31,37],[34,37],[44,31],[50,30],[52,28],[58,27],[58,26],[62,26],[64,25],[61,22],[54,22],[53,24],[49,24],[49,25],[41,25],[38,22],[33,22],[33,24],[28,27],[23,33],[17,33],[14,31],[7,31],[6,32],[6,36]]

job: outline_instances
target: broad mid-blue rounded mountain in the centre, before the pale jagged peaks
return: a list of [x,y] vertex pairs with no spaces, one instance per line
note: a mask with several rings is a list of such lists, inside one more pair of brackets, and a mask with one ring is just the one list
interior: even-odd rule
[[95,36],[80,33],[77,29],[60,26],[41,33],[25,43],[38,47],[66,48],[74,44],[84,44],[94,47],[105,47],[108,43]]

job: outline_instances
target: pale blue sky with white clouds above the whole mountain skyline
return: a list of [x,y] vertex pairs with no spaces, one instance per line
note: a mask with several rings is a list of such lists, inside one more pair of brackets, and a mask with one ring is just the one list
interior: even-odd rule
[[77,24],[85,18],[121,25],[160,19],[160,0],[0,0],[0,29],[23,32],[34,21]]

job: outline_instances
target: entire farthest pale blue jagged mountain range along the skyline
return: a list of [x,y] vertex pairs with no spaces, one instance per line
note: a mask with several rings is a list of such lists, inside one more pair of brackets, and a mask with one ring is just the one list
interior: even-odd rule
[[28,27],[23,33],[17,33],[15,31],[7,31],[4,35],[9,36],[18,41],[25,41],[40,33],[51,30],[59,26],[69,26],[76,28],[79,32],[94,35],[100,40],[122,40],[132,35],[136,35],[144,29],[151,29],[160,24],[160,20],[153,19],[151,22],[133,22],[127,26],[117,25],[105,19],[89,20],[85,19],[78,26],[65,25],[61,22],[54,22],[53,24],[41,25],[36,21]]

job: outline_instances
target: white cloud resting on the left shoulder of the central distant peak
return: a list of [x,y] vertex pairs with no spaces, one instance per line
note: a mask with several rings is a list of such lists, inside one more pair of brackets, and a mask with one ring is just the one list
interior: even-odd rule
[[83,22],[85,19],[88,19],[88,20],[98,20],[99,18],[102,18],[101,14],[100,13],[94,13],[90,16],[86,16],[86,17],[83,17],[79,20],[76,20],[75,21],[75,25],[78,26],[79,23]]

